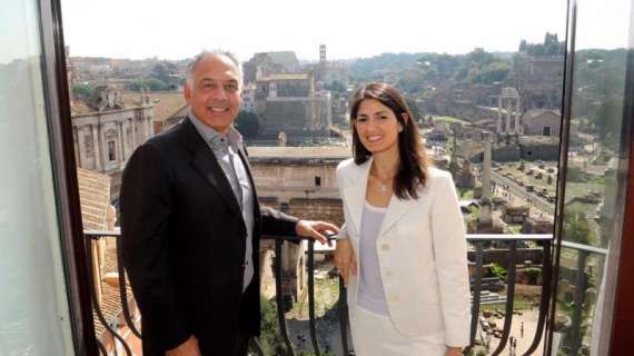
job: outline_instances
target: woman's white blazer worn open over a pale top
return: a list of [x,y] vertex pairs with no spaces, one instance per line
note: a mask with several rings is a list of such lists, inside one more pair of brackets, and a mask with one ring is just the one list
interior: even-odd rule
[[[372,158],[359,166],[347,159],[337,167],[346,233],[355,251],[359,248],[370,166]],[[428,168],[427,181],[419,188],[417,199],[392,198],[376,250],[395,328],[412,337],[444,333],[446,345],[468,345],[470,301],[465,227],[449,172]],[[358,275],[350,277],[347,301],[354,308]]]

